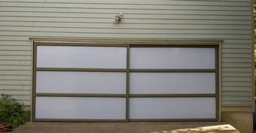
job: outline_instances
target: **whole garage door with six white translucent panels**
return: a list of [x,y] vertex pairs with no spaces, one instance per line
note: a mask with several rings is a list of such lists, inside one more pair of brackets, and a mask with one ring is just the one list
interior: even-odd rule
[[217,121],[216,46],[35,43],[33,121]]

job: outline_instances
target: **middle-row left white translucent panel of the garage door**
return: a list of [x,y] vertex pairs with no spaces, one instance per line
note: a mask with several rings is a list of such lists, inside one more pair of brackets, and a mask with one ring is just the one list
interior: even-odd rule
[[126,93],[125,72],[37,71],[37,93]]

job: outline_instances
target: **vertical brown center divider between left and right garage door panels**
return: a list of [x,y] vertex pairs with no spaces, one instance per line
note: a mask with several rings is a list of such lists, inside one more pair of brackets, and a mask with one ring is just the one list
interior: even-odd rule
[[126,49],[126,122],[129,122],[130,45]]

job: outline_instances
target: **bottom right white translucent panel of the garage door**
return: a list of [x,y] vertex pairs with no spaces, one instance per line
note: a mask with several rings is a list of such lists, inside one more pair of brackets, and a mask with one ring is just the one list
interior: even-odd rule
[[215,98],[130,98],[130,119],[214,119]]

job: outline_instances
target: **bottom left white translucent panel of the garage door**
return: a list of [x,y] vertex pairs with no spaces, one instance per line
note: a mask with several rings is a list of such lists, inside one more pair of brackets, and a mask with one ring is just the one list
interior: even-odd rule
[[125,98],[36,97],[37,119],[125,119]]

